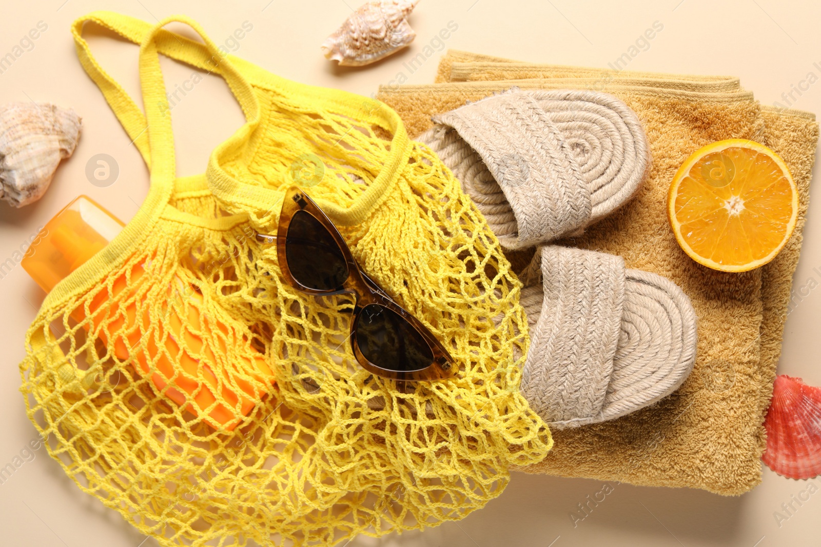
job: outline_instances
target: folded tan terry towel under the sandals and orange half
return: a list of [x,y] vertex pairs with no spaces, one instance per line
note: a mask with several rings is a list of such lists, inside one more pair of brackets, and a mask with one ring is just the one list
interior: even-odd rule
[[[647,131],[654,157],[648,184],[615,216],[564,243],[621,254],[628,267],[667,276],[690,296],[699,316],[699,357],[676,394],[612,422],[554,432],[551,454],[524,471],[690,486],[723,495],[750,490],[760,481],[761,422],[800,250],[818,139],[814,116],[762,109],[729,77],[501,65],[506,61],[471,55],[449,53],[438,79],[456,74],[475,81],[380,89],[378,98],[396,108],[415,135],[429,128],[430,115],[514,84],[566,88],[574,87],[568,79],[578,76],[575,87],[617,95]],[[461,64],[466,62],[481,66]],[[495,71],[525,80],[494,81]],[[646,80],[663,83],[652,87]],[[667,188],[681,162],[704,144],[733,137],[770,145],[784,157],[800,190],[799,224],[790,243],[768,266],[744,274],[712,271],[691,261],[673,238],[665,210]]]

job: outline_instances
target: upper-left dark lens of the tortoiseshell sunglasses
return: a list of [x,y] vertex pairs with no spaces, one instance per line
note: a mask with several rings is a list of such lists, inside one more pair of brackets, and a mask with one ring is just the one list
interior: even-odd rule
[[342,249],[310,212],[297,211],[291,217],[285,255],[291,276],[309,289],[339,289],[348,278]]

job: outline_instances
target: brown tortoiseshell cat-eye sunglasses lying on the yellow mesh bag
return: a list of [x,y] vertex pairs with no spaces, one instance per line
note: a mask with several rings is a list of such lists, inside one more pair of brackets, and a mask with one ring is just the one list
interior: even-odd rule
[[282,276],[308,294],[355,296],[351,346],[368,372],[398,381],[450,378],[456,373],[447,349],[419,320],[365,275],[342,235],[322,209],[296,186],[285,194],[277,235],[257,234],[277,244]]

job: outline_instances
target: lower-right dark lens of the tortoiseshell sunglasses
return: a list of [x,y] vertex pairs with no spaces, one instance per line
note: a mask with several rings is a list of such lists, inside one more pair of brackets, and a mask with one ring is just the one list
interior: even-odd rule
[[356,343],[366,359],[389,371],[420,371],[433,363],[433,353],[422,335],[397,312],[379,304],[362,309]]

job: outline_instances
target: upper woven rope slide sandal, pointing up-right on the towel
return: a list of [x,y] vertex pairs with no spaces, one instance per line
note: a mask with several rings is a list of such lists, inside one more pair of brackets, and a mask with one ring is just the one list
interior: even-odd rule
[[607,93],[512,88],[433,121],[418,140],[507,248],[579,234],[626,203],[649,171],[639,119]]

